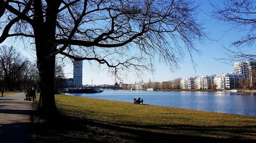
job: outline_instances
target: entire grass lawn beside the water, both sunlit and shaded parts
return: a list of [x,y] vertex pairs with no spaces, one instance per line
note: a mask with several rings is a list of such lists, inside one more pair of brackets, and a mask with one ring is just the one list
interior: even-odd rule
[[76,96],[55,98],[58,119],[33,117],[37,142],[256,142],[255,117]]

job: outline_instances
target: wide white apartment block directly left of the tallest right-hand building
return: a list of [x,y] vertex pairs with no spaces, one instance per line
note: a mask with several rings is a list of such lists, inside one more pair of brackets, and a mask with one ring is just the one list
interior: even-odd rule
[[239,80],[245,79],[243,74],[221,74],[214,78],[214,84],[218,90],[229,90],[240,88]]

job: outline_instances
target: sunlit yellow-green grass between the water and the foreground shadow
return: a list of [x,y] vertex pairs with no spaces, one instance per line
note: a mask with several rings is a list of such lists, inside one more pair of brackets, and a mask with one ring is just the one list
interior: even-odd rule
[[256,118],[181,108],[56,95],[62,115],[157,133],[256,139]]

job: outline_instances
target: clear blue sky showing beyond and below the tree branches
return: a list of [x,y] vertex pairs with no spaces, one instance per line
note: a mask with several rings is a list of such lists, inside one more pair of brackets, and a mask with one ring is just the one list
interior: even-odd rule
[[[210,1],[215,5],[222,4],[221,1]],[[194,54],[194,61],[196,62],[196,70],[191,64],[189,54],[185,55],[185,59],[183,64],[180,64],[180,69],[177,72],[170,73],[167,66],[164,64],[156,64],[156,73],[154,75],[149,73],[144,73],[141,78],[138,78],[134,73],[127,74],[126,78],[124,78],[123,82],[125,83],[134,83],[135,81],[139,81],[143,79],[144,82],[151,81],[167,81],[172,80],[178,77],[184,78],[189,76],[202,76],[208,74],[222,74],[222,73],[230,73],[232,72],[232,65],[223,64],[219,61],[216,61],[214,58],[224,58],[225,50],[222,48],[223,46],[229,47],[232,41],[238,40],[243,36],[243,33],[231,30],[231,25],[228,25],[223,22],[218,22],[215,19],[211,19],[207,14],[212,11],[212,7],[210,2],[207,0],[198,0],[198,3],[201,3],[201,11],[199,13],[199,19],[204,20],[205,22],[205,32],[209,33],[209,37],[211,39],[215,39],[217,41],[209,41],[205,40],[204,44],[196,43],[197,49],[201,51],[201,55]],[[5,41],[1,45],[10,45],[10,41]],[[14,44],[15,47],[23,47],[22,41],[16,42]],[[22,51],[26,56],[30,59],[35,60],[34,51],[29,50],[31,45],[25,45],[27,48]],[[248,52],[256,54],[253,48],[248,48]],[[233,64],[233,63],[230,63]],[[73,64],[70,61],[67,61],[65,67],[65,73],[67,77],[73,77]],[[93,79],[93,84],[114,84],[115,77],[111,76],[108,73],[108,69],[104,69],[102,67],[99,69],[97,66],[91,66],[87,61],[83,62],[83,84],[91,84]]]

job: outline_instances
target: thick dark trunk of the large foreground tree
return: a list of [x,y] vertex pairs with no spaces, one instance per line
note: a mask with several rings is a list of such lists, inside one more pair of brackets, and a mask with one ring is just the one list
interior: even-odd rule
[[57,13],[61,2],[47,1],[46,17],[44,17],[41,1],[33,1],[33,30],[40,87],[38,110],[48,117],[57,115],[54,97],[55,55],[51,53],[56,50],[54,41]]

